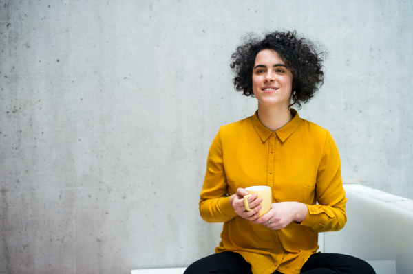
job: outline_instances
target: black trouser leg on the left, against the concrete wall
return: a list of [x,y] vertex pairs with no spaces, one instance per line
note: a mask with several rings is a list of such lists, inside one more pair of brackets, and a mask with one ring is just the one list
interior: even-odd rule
[[242,255],[224,251],[215,253],[193,262],[184,274],[209,274],[209,273],[227,273],[227,274],[252,274],[251,264],[248,264]]

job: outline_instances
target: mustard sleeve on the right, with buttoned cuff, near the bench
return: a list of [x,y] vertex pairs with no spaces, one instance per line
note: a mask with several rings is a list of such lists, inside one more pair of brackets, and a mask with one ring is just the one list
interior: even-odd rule
[[317,171],[316,200],[319,205],[307,205],[308,214],[301,225],[315,232],[339,231],[347,221],[346,201],[339,150],[327,132],[326,144]]

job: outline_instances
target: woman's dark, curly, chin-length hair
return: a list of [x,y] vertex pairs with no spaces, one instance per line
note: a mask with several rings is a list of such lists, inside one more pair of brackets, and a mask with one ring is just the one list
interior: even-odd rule
[[306,103],[324,83],[324,72],[321,71],[326,52],[318,42],[300,38],[296,32],[270,32],[264,39],[255,34],[247,34],[244,43],[232,54],[231,69],[235,72],[233,79],[235,90],[243,91],[244,95],[254,97],[253,67],[255,57],[263,49],[273,49],[279,55],[286,67],[293,73],[293,103],[301,108],[301,102]]

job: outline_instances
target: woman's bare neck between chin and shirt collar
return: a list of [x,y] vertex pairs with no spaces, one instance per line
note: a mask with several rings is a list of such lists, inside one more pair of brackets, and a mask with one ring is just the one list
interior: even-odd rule
[[293,119],[290,110],[286,106],[265,106],[258,102],[258,119],[271,131],[277,131]]

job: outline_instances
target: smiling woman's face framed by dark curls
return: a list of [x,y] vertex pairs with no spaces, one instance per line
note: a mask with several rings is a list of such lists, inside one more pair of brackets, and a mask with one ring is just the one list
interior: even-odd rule
[[263,49],[255,57],[253,91],[258,104],[290,105],[293,73],[289,71],[277,52]]

